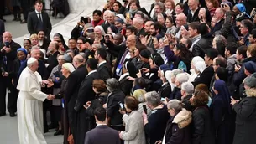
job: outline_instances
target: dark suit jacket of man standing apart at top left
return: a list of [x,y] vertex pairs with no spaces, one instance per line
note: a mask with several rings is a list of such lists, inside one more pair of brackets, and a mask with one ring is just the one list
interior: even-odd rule
[[41,12],[42,18],[43,18],[43,23],[44,23],[44,28],[43,29],[39,29],[39,18],[38,18],[38,14],[35,13],[35,11],[29,13],[28,16],[28,31],[30,34],[34,34],[34,33],[39,33],[39,30],[44,30],[45,36],[47,36],[47,38],[50,35],[50,31],[51,31],[51,23],[50,23],[50,18],[48,16],[47,13],[45,12]]

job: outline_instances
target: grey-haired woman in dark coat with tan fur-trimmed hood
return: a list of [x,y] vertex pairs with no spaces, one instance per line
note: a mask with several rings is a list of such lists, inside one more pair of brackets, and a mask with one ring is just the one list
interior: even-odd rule
[[182,108],[182,102],[180,100],[170,100],[167,104],[170,119],[167,122],[165,136],[163,141],[157,141],[157,144],[161,143],[180,143],[191,144],[191,111],[187,111]]

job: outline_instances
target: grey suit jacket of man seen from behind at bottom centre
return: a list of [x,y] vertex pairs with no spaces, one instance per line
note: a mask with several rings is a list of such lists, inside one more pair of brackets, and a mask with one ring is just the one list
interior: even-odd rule
[[97,126],[95,129],[86,132],[85,144],[120,144],[118,131],[108,126]]

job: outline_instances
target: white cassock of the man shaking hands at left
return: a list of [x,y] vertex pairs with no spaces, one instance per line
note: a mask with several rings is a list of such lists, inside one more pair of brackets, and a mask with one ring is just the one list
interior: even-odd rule
[[17,89],[18,136],[20,144],[47,144],[44,139],[42,78],[26,67],[21,73]]

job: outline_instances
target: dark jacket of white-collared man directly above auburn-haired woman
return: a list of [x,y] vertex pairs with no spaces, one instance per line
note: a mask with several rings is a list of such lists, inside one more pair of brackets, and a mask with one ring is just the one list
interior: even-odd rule
[[112,69],[111,66],[107,63],[101,64],[97,68],[97,73],[100,79],[106,81],[107,79],[112,77]]

